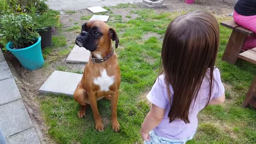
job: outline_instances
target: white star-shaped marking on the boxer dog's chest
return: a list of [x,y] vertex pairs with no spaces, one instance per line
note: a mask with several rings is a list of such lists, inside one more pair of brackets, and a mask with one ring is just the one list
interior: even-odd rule
[[108,76],[106,69],[101,71],[101,76],[94,78],[93,83],[100,86],[100,91],[108,91],[109,86],[111,86],[115,81],[115,76]]

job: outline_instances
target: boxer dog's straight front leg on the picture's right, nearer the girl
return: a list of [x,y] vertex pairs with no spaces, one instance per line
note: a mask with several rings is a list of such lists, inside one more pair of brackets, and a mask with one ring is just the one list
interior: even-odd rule
[[119,131],[119,123],[117,120],[117,101],[118,101],[118,90],[111,93],[111,124],[112,129],[115,132]]

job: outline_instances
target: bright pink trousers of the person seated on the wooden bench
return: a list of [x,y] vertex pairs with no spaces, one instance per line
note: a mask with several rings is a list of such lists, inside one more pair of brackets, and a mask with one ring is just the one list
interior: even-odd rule
[[[256,15],[244,16],[234,11],[233,18],[238,25],[253,31],[256,34]],[[254,47],[256,47],[256,35],[247,37],[242,51],[246,51]]]

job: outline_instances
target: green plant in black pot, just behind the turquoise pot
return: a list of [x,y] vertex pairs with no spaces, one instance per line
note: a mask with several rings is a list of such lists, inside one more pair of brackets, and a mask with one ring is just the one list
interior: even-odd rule
[[52,28],[57,25],[57,17],[50,10],[42,15],[36,15],[34,18],[36,22],[36,31],[41,35],[42,49],[52,45]]

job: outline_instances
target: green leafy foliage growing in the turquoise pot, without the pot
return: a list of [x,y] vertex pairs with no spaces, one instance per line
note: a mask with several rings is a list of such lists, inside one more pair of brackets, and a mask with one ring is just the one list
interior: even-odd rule
[[13,47],[18,49],[34,44],[39,37],[34,28],[35,22],[27,14],[5,14],[0,25],[0,37],[13,42]]

